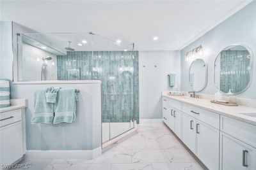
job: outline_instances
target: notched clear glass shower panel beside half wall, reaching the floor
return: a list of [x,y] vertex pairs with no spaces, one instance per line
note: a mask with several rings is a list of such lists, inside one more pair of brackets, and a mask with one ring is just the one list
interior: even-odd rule
[[102,81],[102,143],[105,143],[134,127],[131,45],[93,36],[92,76],[93,80]]

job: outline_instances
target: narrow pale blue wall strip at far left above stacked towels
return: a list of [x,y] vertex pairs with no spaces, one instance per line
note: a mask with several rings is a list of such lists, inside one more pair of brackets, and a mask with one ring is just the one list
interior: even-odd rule
[[12,22],[0,21],[0,78],[12,80]]

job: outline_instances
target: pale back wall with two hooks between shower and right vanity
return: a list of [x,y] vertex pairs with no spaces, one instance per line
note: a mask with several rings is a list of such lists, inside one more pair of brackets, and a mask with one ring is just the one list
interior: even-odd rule
[[[173,88],[168,85],[170,73],[176,74],[177,85]],[[180,90],[180,52],[139,52],[139,84],[140,118],[161,118],[161,92]]]

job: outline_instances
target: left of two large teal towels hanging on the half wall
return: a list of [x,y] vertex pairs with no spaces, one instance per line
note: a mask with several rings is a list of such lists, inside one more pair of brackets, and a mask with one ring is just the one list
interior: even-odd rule
[[34,114],[31,124],[52,124],[54,116],[54,104],[47,103],[45,90],[36,90],[34,95]]

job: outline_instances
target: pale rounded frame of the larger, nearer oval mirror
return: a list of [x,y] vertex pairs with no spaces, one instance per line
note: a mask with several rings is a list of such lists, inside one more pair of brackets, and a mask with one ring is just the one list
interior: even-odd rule
[[220,55],[220,53],[221,53],[223,50],[225,50],[225,49],[227,49],[227,48],[230,48],[230,47],[233,47],[233,46],[243,46],[243,47],[246,48],[246,50],[250,53],[250,56],[251,56],[251,59],[250,59],[250,71],[249,71],[249,74],[250,74],[250,81],[249,81],[248,85],[247,85],[243,90],[241,90],[240,92],[237,92],[237,93],[233,93],[233,95],[241,94],[241,93],[245,92],[245,91],[250,87],[250,85],[252,84],[252,78],[253,78],[253,76],[252,76],[252,75],[253,75],[253,52],[252,52],[251,48],[249,48],[247,45],[244,45],[244,44],[234,44],[234,45],[230,45],[230,46],[227,46],[227,47],[223,48],[223,49],[218,53],[218,55],[216,56],[216,58],[215,58],[215,60],[214,60],[214,85],[215,85],[216,89],[219,90],[222,94],[227,94],[227,93],[222,92],[222,91],[220,90],[220,88],[218,87],[218,85],[216,85],[216,74],[215,74],[215,72],[216,72],[216,64],[215,64],[215,63],[216,63],[216,60],[217,60],[218,56]]

